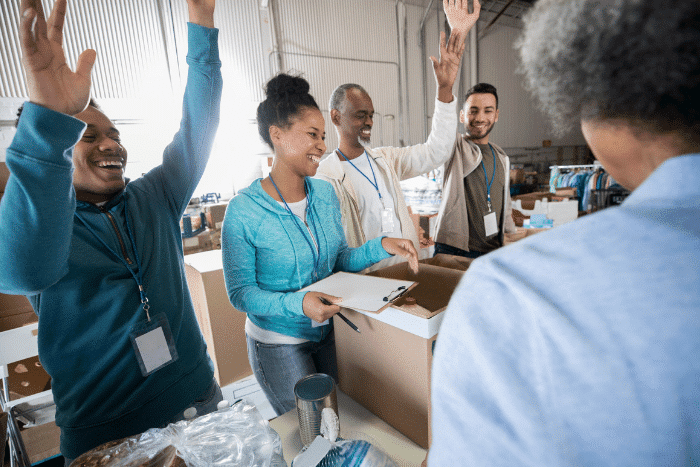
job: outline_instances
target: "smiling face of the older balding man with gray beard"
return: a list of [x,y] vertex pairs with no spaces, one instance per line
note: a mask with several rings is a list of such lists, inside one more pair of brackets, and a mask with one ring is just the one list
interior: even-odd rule
[[331,118],[341,142],[357,148],[370,145],[374,106],[367,93],[356,88],[348,89],[345,102],[340,110],[331,111]]

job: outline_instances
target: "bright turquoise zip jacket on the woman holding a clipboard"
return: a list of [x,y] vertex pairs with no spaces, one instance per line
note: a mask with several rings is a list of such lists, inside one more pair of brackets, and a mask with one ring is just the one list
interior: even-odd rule
[[302,308],[306,292],[299,292],[316,282],[310,232],[321,253],[318,280],[337,271],[361,271],[391,255],[382,247],[383,237],[348,247],[340,204],[328,182],[306,179],[307,228],[298,217],[295,224],[295,216],[260,181],[241,190],[226,209],[221,248],[228,297],[257,326],[318,342],[330,326],[311,326]]

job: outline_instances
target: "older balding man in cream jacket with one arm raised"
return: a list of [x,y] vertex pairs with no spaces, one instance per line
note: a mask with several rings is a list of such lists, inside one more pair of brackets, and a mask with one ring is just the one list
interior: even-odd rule
[[[437,83],[432,128],[423,144],[405,148],[369,148],[374,107],[367,91],[358,84],[338,86],[330,99],[331,121],[339,147],[324,159],[317,177],[333,185],[340,201],[348,245],[358,247],[380,236],[407,238],[419,245],[400,181],[429,172],[450,157],[457,133],[456,100],[452,95],[464,39],[476,23],[481,6],[474,1],[468,13],[466,0],[444,0],[445,15],[452,27],[449,41],[440,39],[440,60],[431,57]],[[373,266],[382,268],[401,261],[387,258]]]

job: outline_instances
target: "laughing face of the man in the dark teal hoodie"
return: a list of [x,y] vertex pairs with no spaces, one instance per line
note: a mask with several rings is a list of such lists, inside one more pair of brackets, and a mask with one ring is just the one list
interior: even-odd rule
[[124,189],[126,150],[119,131],[99,110],[88,106],[76,115],[88,127],[73,149],[76,198],[89,203],[109,201]]

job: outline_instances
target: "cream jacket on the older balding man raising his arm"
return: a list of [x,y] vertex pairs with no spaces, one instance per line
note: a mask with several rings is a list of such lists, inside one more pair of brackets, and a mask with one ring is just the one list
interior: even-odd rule
[[[396,216],[401,223],[403,237],[413,241],[416,249],[420,247],[418,234],[408,212],[400,181],[430,172],[450,158],[450,150],[454,145],[454,135],[457,133],[456,102],[457,100],[454,98],[448,104],[435,100],[432,128],[425,143],[405,148],[367,149],[367,154],[374,159],[379,168],[378,175],[383,177],[387,189],[394,197]],[[360,221],[356,187],[352,186],[345,176],[340,156],[336,151],[321,161],[316,178],[330,182],[335,189],[340,201],[343,228],[348,246],[359,247],[363,245],[367,238]]]

